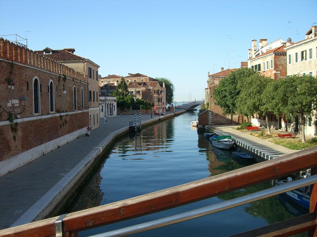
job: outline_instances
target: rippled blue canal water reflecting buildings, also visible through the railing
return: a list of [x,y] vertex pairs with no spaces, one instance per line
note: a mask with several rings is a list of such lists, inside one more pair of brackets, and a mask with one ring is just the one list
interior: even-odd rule
[[[234,149],[226,151],[213,148],[209,141],[205,140],[204,134],[197,134],[196,128],[191,128],[190,123],[194,120],[197,120],[197,111],[186,112],[142,128],[142,133],[138,137],[123,137],[113,146],[112,152],[105,157],[100,168],[88,180],[68,213],[181,185],[252,164],[233,159]],[[270,181],[193,204],[83,231],[79,236],[89,236],[183,213],[260,191],[272,187],[272,184],[273,181]],[[287,201],[279,198],[266,198],[132,236],[228,236],[302,214]],[[297,236],[306,236],[306,233]]]

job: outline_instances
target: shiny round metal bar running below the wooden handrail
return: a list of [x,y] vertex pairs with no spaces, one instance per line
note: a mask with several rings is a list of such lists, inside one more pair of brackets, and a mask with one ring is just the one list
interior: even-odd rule
[[175,224],[178,222],[187,221],[190,219],[194,219],[200,216],[209,215],[215,212],[227,210],[233,207],[241,206],[243,204],[251,203],[254,201],[258,201],[260,199],[264,199],[267,197],[275,196],[277,194],[281,194],[283,192],[291,191],[306,185],[311,185],[317,182],[317,175],[313,175],[311,177],[305,178],[305,179],[299,179],[287,184],[275,186],[269,189],[265,189],[259,192],[255,192],[249,195],[245,195],[243,197],[237,197],[228,201],[224,201],[221,203],[209,205],[203,208],[199,208],[196,210],[191,210],[188,212],[184,212],[181,214],[177,214],[174,216],[169,216],[165,218],[161,218],[158,220],[153,220],[150,222],[145,222],[133,226],[128,226],[125,228],[117,229],[108,231],[101,234],[95,234],[90,235],[88,237],[120,237],[120,236],[126,236],[130,234],[136,234],[140,232],[144,232],[147,230]]

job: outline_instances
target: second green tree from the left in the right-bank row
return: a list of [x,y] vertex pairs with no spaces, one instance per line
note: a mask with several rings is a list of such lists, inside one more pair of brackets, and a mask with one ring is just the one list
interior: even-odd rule
[[243,81],[243,87],[238,95],[236,106],[237,112],[252,116],[254,114],[266,115],[266,123],[268,134],[271,134],[270,121],[268,120],[268,108],[265,106],[261,94],[267,85],[272,82],[270,77],[262,76],[262,74],[253,74]]

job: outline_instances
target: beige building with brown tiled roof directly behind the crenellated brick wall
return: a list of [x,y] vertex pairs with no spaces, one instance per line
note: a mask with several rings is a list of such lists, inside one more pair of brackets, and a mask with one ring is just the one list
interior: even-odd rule
[[[52,50],[48,47],[41,51],[35,51],[39,54],[45,55],[50,59],[67,65],[76,71],[79,71],[87,76],[88,80],[88,90],[89,93],[86,94],[85,99],[91,101],[91,106],[89,106],[89,123],[91,128],[94,129],[99,126],[99,84],[98,84],[98,70],[99,65],[94,63],[88,58],[83,58],[74,54],[74,48],[66,48],[59,50]],[[78,106],[81,106],[79,103]]]

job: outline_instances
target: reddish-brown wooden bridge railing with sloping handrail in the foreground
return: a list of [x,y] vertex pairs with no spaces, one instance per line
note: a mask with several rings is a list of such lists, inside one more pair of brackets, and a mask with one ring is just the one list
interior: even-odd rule
[[[62,220],[63,236],[77,236],[82,230],[189,204],[309,168],[312,175],[317,174],[317,147],[184,185],[69,213]],[[234,236],[289,236],[305,231],[309,231],[309,236],[316,236],[316,202],[317,185],[314,184],[311,185],[309,214]],[[55,221],[58,218],[59,216],[4,229],[0,231],[0,236],[55,236]]]

